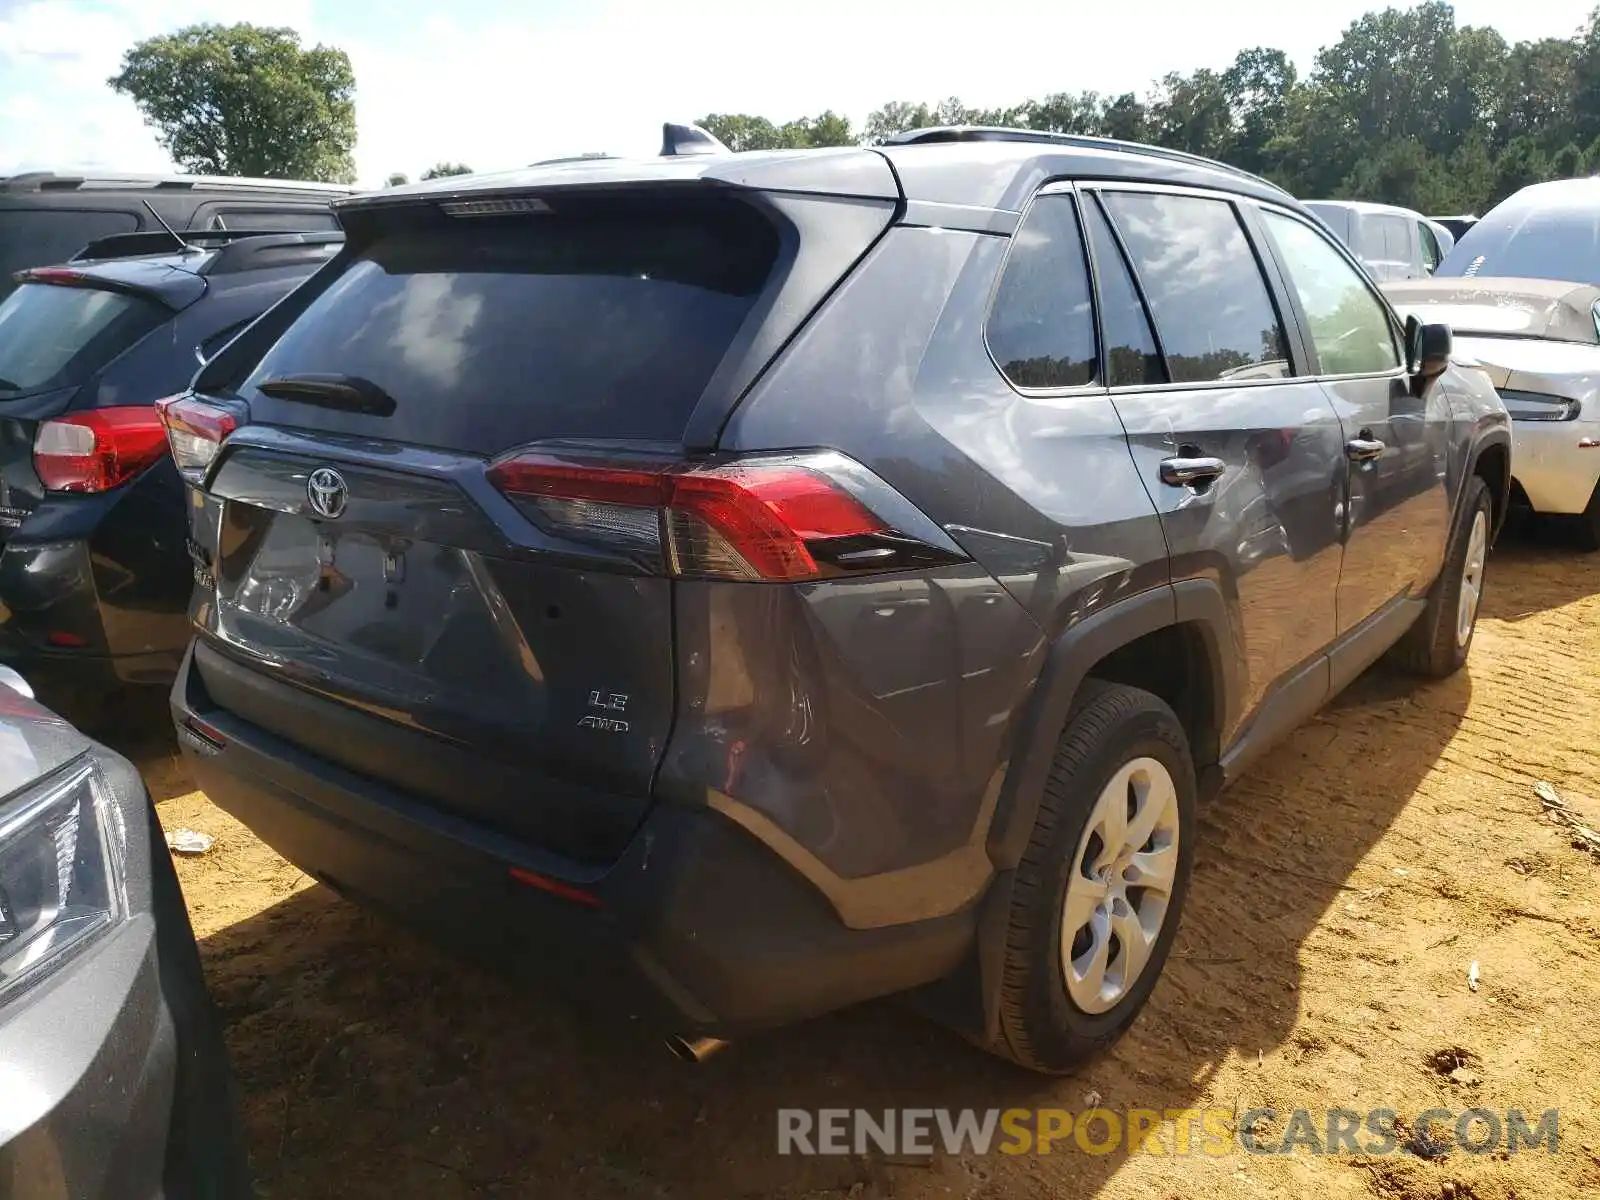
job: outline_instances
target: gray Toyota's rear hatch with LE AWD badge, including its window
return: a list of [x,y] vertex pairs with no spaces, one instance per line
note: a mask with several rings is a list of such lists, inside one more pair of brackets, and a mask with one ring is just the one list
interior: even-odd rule
[[781,221],[702,190],[346,222],[344,270],[200,381],[250,410],[206,485],[214,704],[579,861],[621,851],[670,734],[672,584],[485,472],[528,443],[683,453],[786,256]]

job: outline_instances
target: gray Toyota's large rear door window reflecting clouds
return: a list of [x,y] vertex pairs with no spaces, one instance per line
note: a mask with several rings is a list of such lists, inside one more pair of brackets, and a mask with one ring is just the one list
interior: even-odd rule
[[1229,202],[1107,192],[1106,206],[1144,285],[1173,382],[1288,374],[1272,293]]

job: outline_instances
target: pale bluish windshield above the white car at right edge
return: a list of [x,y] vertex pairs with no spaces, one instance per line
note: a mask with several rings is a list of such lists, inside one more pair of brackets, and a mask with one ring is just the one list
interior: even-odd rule
[[1600,283],[1600,205],[1507,202],[1469,229],[1434,274]]

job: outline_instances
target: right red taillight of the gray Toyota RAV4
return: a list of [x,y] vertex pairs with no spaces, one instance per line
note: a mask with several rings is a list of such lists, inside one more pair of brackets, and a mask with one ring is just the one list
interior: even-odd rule
[[[501,459],[490,482],[541,526],[670,574],[786,582],[958,558],[893,528],[840,454],[722,464],[618,464],[547,453]],[[877,490],[886,485],[875,482]],[[869,490],[870,491],[870,490]],[[904,504],[904,501],[901,501]],[[922,518],[923,522],[926,518]]]

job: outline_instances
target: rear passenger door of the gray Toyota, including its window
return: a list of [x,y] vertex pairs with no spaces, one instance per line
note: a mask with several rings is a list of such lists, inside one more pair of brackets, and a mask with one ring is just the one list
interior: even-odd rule
[[[1234,200],[1107,186],[1085,214],[1107,350],[1123,363],[1112,398],[1160,512],[1173,581],[1216,581],[1230,602],[1237,715],[1290,686],[1278,710],[1298,720],[1326,694],[1322,651],[1336,635],[1339,419],[1306,378]],[[1118,347],[1139,336],[1150,354]]]

